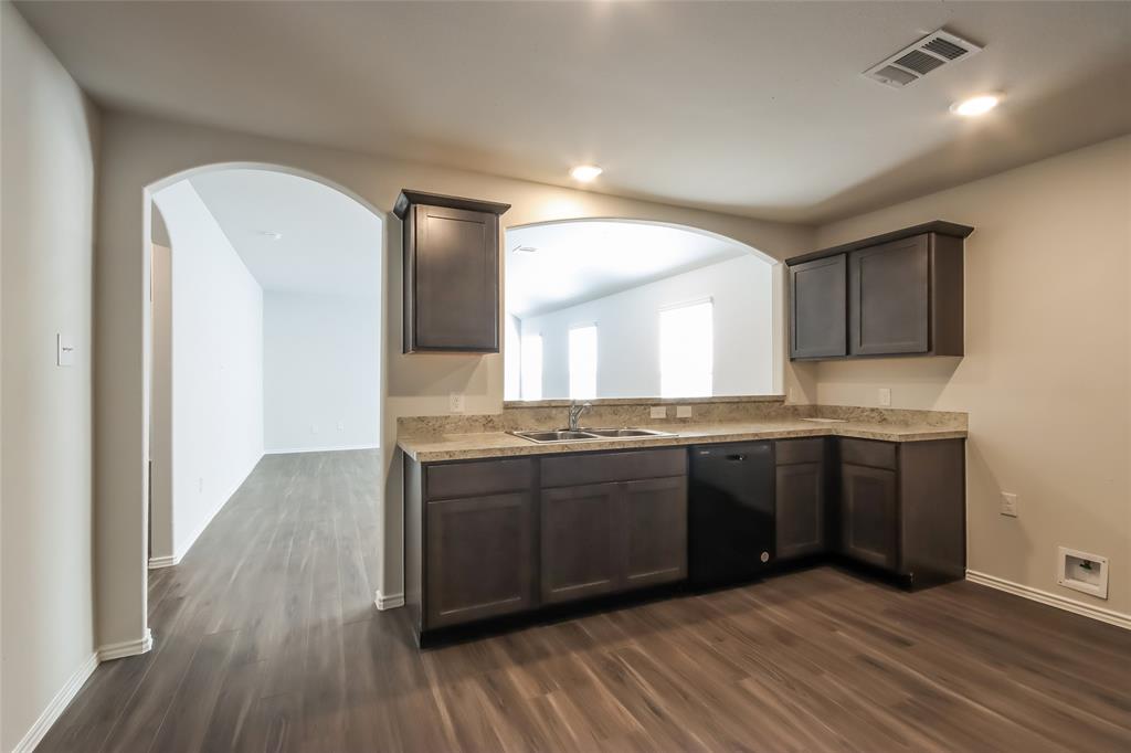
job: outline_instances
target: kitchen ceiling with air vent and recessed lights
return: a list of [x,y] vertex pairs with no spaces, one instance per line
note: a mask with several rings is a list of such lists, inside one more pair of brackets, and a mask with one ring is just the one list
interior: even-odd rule
[[[20,2],[98,102],[823,222],[1131,131],[1129,2]],[[940,27],[985,45],[860,73]],[[1000,89],[988,116],[958,98]],[[422,187],[426,188],[426,187]]]

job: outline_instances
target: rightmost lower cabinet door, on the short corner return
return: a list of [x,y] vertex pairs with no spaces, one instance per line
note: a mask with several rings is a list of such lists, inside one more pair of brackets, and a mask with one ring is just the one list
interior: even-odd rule
[[840,466],[840,549],[867,564],[898,563],[896,471]]

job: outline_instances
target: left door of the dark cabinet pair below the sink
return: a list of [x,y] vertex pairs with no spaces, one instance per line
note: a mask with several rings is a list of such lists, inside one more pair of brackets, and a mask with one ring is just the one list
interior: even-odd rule
[[620,485],[542,491],[542,600],[545,604],[618,590],[623,572]]

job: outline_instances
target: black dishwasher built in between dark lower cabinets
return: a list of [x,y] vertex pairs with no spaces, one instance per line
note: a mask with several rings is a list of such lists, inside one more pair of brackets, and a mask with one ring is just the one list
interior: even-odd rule
[[691,450],[688,577],[715,586],[757,577],[774,562],[774,444]]

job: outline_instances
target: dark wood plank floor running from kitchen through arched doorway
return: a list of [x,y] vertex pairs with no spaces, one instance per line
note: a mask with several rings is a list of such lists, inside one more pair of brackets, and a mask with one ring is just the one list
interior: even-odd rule
[[268,456],[40,751],[1128,751],[1131,633],[831,568],[417,651],[375,452]]

